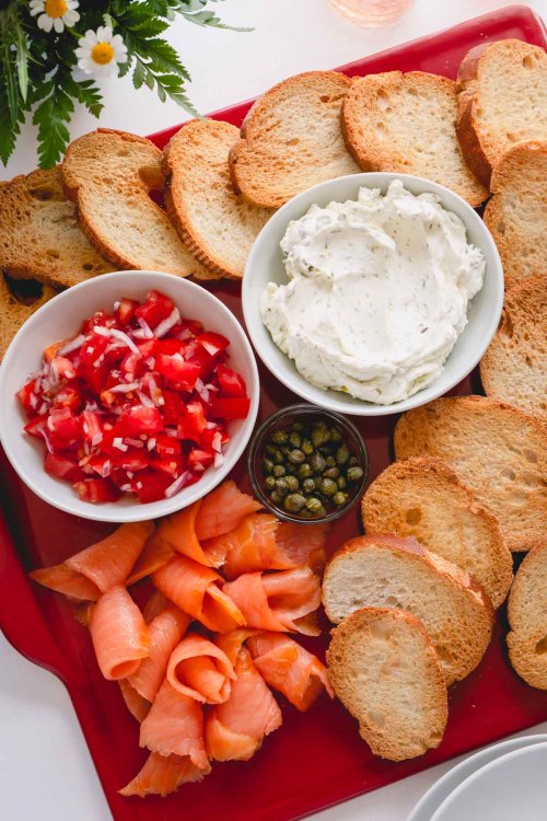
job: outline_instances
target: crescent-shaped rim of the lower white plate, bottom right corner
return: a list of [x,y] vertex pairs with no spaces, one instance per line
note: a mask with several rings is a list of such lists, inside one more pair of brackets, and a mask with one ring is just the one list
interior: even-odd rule
[[523,736],[522,738],[513,738],[508,741],[501,741],[499,744],[487,747],[485,750],[480,750],[475,755],[469,755],[464,761],[459,762],[456,766],[449,770],[442,778],[433,784],[426,795],[420,798],[407,821],[431,821],[431,817],[434,811],[441,806],[441,803],[450,796],[450,794],[469,777],[473,773],[485,764],[489,764],[496,759],[500,759],[502,755],[507,755],[513,750],[524,749],[525,747],[532,747],[533,744],[539,744],[547,742],[547,736]]

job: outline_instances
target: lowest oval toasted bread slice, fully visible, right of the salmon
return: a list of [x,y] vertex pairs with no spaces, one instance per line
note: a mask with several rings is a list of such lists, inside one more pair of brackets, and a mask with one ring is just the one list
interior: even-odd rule
[[363,608],[345,618],[327,650],[330,681],[374,755],[404,761],[439,747],[447,693],[419,618]]

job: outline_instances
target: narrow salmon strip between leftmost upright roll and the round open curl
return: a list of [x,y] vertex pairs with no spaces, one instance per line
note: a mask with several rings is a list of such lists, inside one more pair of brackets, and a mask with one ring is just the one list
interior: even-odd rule
[[149,702],[154,701],[165,679],[171,654],[186,633],[190,621],[189,615],[174,604],[168,604],[149,623],[149,656],[141,661],[137,672],[128,677],[129,684]]

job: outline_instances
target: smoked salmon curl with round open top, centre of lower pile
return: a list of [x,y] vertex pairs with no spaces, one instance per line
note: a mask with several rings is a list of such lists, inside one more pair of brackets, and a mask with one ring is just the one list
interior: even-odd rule
[[235,672],[225,652],[197,633],[185,636],[168,661],[170,684],[197,702],[225,702],[234,679]]

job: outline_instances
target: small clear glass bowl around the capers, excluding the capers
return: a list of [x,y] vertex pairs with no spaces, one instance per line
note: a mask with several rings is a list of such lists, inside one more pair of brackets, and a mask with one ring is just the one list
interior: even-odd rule
[[[345,505],[335,508],[326,516],[311,517],[309,519],[299,516],[299,513],[291,513],[271,501],[264,487],[265,476],[261,462],[264,459],[266,440],[274,431],[289,428],[295,421],[305,421],[309,425],[313,425],[315,421],[319,420],[329,426],[336,425],[341,428],[345,442],[351,451],[351,454],[359,460],[358,464],[359,467],[362,467],[363,475],[359,482],[356,482],[354,485],[351,486],[351,495],[348,497],[348,501]],[[251,440],[247,469],[255,496],[257,496],[263,505],[277,516],[278,519],[283,519],[289,522],[298,522],[299,524],[317,524],[318,522],[331,522],[335,521],[335,519],[339,519],[353,507],[358,499],[361,498],[369,473],[369,456],[364,440],[353,423],[334,410],[325,410],[316,405],[302,403],[280,408],[260,425]]]

